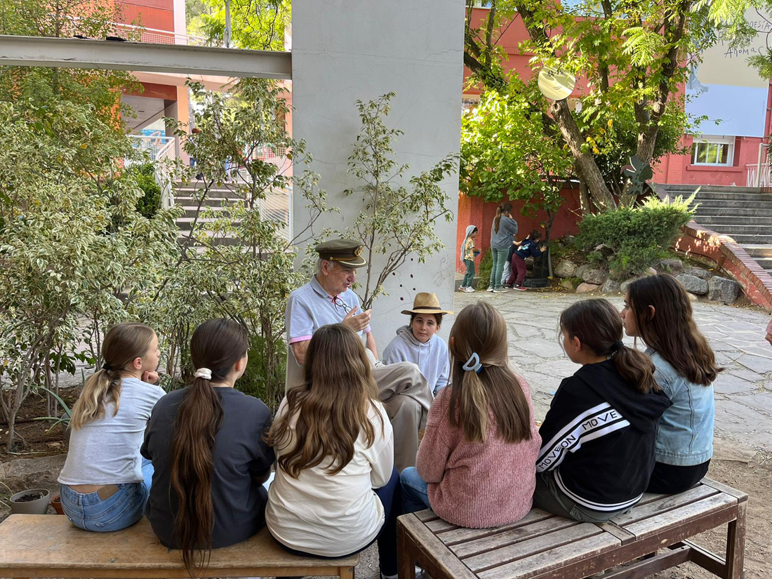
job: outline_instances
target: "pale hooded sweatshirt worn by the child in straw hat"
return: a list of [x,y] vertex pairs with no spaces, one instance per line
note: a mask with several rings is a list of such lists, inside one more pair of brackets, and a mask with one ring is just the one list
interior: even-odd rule
[[384,364],[412,362],[418,365],[426,378],[429,388],[436,395],[448,385],[450,377],[450,354],[448,344],[437,334],[426,344],[415,339],[410,326],[402,326],[384,350],[381,357]]

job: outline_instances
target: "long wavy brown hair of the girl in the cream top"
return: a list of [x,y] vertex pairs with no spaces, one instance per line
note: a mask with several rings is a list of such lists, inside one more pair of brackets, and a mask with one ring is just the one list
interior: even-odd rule
[[368,414],[378,401],[378,387],[361,338],[341,323],[314,332],[303,370],[303,384],[287,392],[286,411],[273,422],[268,443],[288,444],[294,429],[294,445],[279,466],[296,479],[303,469],[329,462],[327,472],[334,475],[354,458],[360,433],[368,447],[375,441]]

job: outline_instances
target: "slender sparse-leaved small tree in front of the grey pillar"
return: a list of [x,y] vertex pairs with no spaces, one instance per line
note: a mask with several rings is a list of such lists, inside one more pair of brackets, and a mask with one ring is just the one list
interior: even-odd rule
[[364,245],[367,267],[360,296],[363,310],[369,310],[373,301],[385,293],[386,279],[409,256],[423,263],[445,247],[435,233],[435,222],[453,218],[446,207],[449,197],[440,184],[457,171],[456,155],[448,155],[428,171],[409,178],[409,188],[399,184],[405,180],[409,166],[394,161],[391,144],[403,133],[384,124],[394,97],[396,93],[387,93],[367,103],[357,100],[362,125],[348,159],[349,172],[362,181],[361,188],[344,191],[344,195],[359,196],[364,206],[344,235],[361,239]]

